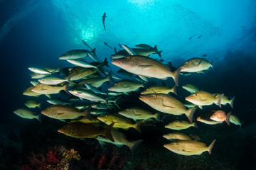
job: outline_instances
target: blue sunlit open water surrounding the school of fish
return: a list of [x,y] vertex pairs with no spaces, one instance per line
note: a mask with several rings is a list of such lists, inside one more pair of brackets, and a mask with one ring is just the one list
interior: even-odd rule
[[[22,95],[31,86],[28,67],[57,68],[61,63],[67,67],[68,63],[58,57],[68,50],[87,49],[81,40],[96,47],[97,56],[101,60],[106,57],[109,62],[114,51],[103,42],[117,48],[119,43],[129,47],[146,43],[163,50],[164,62],[171,62],[174,67],[206,54],[215,71],[181,77],[181,85],[189,82],[205,91],[235,96],[233,112],[245,122],[242,134],[247,134],[247,140],[242,141],[250,141],[242,149],[250,150],[255,145],[256,1],[0,0],[0,9],[1,123],[15,128],[31,123],[13,113],[30,99]],[[102,26],[105,12],[106,31]],[[158,55],[151,57],[159,59]],[[110,67],[117,70],[112,64]],[[235,148],[228,152],[240,154],[234,144],[239,137],[223,140],[233,142]],[[220,145],[220,155],[228,157],[221,154]],[[255,147],[250,151],[242,155],[250,156],[250,161],[245,161],[255,167]]]

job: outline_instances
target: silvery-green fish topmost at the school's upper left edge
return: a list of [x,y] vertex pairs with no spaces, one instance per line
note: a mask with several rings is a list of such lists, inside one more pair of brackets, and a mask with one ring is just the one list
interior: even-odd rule
[[68,60],[68,59],[80,59],[84,57],[88,57],[89,54],[95,53],[95,48],[92,51],[88,50],[70,50],[65,52],[63,55],[59,57],[59,60]]

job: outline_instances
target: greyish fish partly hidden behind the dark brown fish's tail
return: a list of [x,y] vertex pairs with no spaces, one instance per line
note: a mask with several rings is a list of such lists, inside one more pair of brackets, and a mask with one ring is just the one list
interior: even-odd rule
[[127,140],[127,136],[124,135],[124,133],[122,133],[116,129],[112,130],[112,136],[114,138],[114,142],[112,142],[111,140],[109,140],[105,137],[101,137],[101,136],[98,136],[97,140],[100,143],[108,142],[108,143],[112,143],[117,146],[126,145],[127,147],[129,147],[129,149],[131,149],[132,155],[134,155],[135,149],[143,142],[143,140],[135,140],[135,141],[130,142],[129,140]]

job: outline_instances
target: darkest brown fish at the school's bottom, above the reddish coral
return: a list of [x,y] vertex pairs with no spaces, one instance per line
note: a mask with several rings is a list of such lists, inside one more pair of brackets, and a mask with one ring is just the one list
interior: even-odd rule
[[107,126],[107,128],[104,130],[100,130],[94,125],[76,122],[64,125],[63,128],[58,130],[58,132],[75,138],[96,138],[100,135],[103,135],[114,142],[114,138],[111,133],[113,125],[114,123]]

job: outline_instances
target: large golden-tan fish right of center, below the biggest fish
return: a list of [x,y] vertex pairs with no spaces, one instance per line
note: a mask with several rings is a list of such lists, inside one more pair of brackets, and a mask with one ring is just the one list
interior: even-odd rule
[[188,120],[191,123],[193,122],[193,113],[195,113],[196,107],[186,109],[181,101],[178,101],[176,98],[169,96],[168,94],[141,95],[139,100],[156,109],[156,111],[161,111],[163,113],[172,115],[186,114]]

